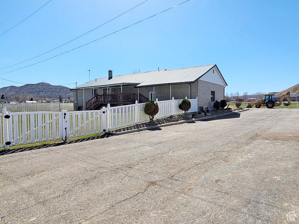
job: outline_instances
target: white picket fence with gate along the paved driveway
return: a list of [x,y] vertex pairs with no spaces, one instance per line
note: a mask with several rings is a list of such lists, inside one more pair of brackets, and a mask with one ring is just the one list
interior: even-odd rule
[[[159,112],[155,118],[167,117],[183,113],[179,109],[182,100],[166,100],[156,102]],[[196,112],[198,100],[190,99],[191,108]],[[34,142],[69,137],[105,133],[117,128],[134,125],[149,120],[144,113],[145,103],[102,108],[96,111],[66,111],[59,112],[18,112],[12,113],[3,108],[0,113],[0,148],[7,149],[13,145],[23,145]]]

